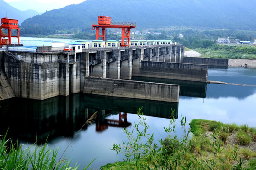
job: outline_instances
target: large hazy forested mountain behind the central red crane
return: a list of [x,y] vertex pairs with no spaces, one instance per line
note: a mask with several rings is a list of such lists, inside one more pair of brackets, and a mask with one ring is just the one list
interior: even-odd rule
[[112,21],[136,22],[137,29],[193,26],[256,30],[255,0],[86,0],[26,19],[28,34],[81,30],[97,23],[98,15]]

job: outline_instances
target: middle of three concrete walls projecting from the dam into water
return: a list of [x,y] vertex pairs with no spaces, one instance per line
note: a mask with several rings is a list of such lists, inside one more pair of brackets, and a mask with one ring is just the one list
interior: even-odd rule
[[141,69],[133,76],[206,82],[208,66],[199,64],[141,61]]

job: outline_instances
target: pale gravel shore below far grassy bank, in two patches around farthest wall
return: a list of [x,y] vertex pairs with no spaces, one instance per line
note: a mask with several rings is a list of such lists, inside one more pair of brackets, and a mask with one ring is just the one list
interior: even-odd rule
[[[196,52],[196,51],[189,50],[189,51],[185,51],[185,56],[188,56],[188,57],[200,57],[201,54]],[[230,66],[230,67],[256,68],[256,60],[229,59],[228,66]]]

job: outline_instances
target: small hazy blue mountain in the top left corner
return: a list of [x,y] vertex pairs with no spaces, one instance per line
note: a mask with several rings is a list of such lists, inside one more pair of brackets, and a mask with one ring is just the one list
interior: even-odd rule
[[0,0],[0,17],[8,17],[12,19],[18,19],[18,23],[22,23],[25,19],[29,17],[33,17],[34,15],[39,14],[37,11],[34,10],[26,10],[20,11],[3,0]]

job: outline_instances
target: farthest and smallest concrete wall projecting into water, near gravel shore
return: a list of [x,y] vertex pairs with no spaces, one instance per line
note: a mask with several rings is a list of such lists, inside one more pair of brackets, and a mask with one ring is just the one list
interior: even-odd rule
[[228,68],[229,59],[184,57],[184,63],[208,64],[209,67]]

